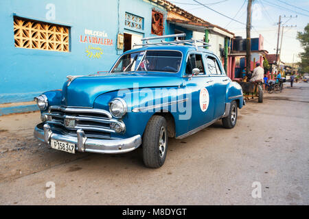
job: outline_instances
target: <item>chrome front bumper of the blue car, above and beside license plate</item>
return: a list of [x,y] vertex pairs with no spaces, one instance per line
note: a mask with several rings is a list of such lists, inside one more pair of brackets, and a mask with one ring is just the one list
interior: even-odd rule
[[34,137],[42,142],[50,144],[50,140],[59,140],[70,142],[76,145],[76,151],[90,153],[127,153],[133,151],[141,145],[141,136],[133,136],[125,139],[93,139],[87,138],[82,129],[78,129],[77,138],[74,136],[65,136],[58,133],[53,133],[48,124],[43,125],[40,129],[38,125],[34,128]]

